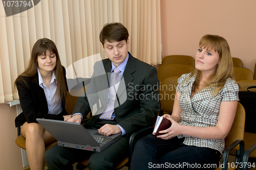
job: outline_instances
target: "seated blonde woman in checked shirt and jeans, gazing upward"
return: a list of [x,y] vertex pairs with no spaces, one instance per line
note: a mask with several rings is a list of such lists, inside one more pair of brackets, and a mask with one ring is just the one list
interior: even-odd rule
[[163,115],[172,126],[137,142],[131,169],[218,166],[236,115],[239,86],[223,37],[203,36],[195,60],[195,71],[178,79],[172,115]]

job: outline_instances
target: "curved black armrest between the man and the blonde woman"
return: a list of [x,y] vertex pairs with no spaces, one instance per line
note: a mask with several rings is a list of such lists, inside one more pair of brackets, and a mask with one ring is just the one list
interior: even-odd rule
[[131,135],[130,140],[129,140],[129,164],[131,163],[131,160],[132,160],[133,149],[134,149],[136,142],[140,138],[147,136],[149,134],[152,134],[153,129],[154,129],[154,127],[146,127],[146,128],[143,128],[143,129],[140,129],[140,130],[134,132]]

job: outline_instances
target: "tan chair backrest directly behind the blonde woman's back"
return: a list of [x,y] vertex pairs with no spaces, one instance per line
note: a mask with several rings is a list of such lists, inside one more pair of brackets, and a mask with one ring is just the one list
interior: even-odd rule
[[[244,139],[245,110],[241,103],[238,102],[236,117],[234,117],[233,125],[225,138],[225,149],[236,140]],[[239,150],[239,145],[234,148]]]

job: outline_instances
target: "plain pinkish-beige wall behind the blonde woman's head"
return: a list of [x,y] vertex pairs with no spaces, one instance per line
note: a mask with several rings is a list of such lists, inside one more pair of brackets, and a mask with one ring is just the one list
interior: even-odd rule
[[255,0],[161,0],[164,57],[190,55],[195,58],[205,34],[224,37],[232,57],[254,71],[256,62]]

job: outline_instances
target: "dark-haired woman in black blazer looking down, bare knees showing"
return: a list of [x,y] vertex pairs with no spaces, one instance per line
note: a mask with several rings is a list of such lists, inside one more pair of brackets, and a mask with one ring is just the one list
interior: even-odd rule
[[55,139],[37,123],[36,118],[70,118],[65,110],[66,71],[52,40],[42,38],[35,42],[28,68],[14,84],[23,110],[15,118],[15,126],[22,126],[30,168],[44,169],[45,145]]

